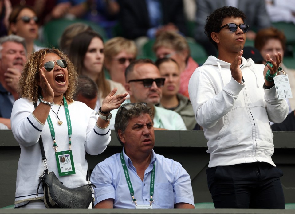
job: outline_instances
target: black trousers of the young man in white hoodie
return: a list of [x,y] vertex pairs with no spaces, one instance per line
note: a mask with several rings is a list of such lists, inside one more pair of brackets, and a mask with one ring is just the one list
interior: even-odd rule
[[283,172],[265,162],[207,169],[215,208],[285,209]]

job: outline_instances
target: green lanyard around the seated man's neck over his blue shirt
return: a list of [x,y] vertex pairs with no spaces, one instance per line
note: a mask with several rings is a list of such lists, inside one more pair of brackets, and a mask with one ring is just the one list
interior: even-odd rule
[[[130,194],[132,196],[132,202],[134,202],[135,205],[137,206],[137,204],[136,204],[137,200],[134,198],[134,190],[133,190],[131,181],[129,179],[129,173],[128,173],[128,169],[127,169],[127,166],[126,166],[126,162],[125,162],[124,157],[123,157],[123,151],[120,154],[120,158],[121,158],[122,167],[124,169],[124,174],[125,174],[125,177],[126,177],[126,181],[127,181],[128,187],[129,187],[129,191],[130,191]],[[153,194],[154,194],[154,187],[155,187],[155,165],[156,165],[156,163],[153,164],[153,170],[151,171],[150,206],[151,206],[151,203],[154,202]]]

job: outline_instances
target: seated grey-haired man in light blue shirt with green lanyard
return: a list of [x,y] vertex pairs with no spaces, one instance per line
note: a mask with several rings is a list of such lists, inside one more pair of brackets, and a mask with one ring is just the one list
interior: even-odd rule
[[180,163],[156,154],[153,111],[145,103],[123,104],[115,131],[124,146],[96,165],[95,208],[194,208],[191,179]]

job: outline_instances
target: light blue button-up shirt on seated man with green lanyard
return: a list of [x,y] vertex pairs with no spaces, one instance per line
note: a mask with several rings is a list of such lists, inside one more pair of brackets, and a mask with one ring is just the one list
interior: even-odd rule
[[[145,170],[144,179],[141,181],[124,150],[123,156],[138,205],[150,204],[151,171],[154,163],[156,164],[153,209],[173,209],[176,203],[194,205],[191,178],[179,162],[155,154],[153,150],[151,163]],[[97,164],[90,180],[92,184],[96,185],[94,188],[95,203],[112,198],[114,199],[113,208],[135,208],[123,171],[120,153]]]

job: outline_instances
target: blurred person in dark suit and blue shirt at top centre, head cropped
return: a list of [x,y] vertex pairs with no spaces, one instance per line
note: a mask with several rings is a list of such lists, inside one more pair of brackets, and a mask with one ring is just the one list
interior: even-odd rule
[[183,0],[119,0],[123,36],[136,39],[138,49],[163,31],[186,35]]

